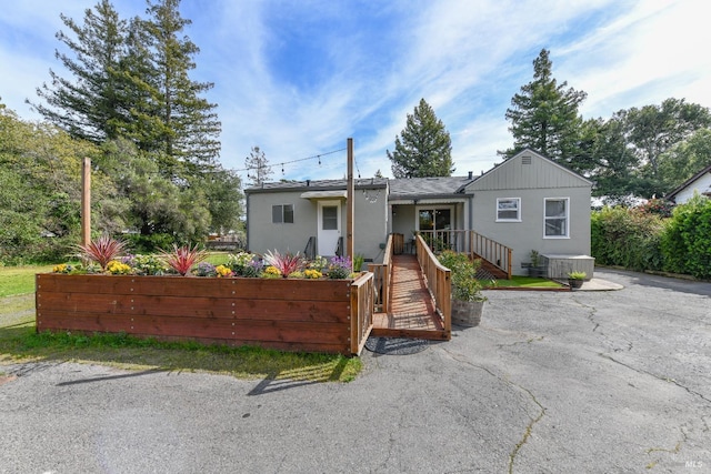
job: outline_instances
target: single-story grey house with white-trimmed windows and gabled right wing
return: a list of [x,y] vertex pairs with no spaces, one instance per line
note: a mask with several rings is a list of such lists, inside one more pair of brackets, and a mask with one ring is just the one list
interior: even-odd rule
[[[346,184],[297,181],[247,189],[249,250],[337,254],[344,236]],[[474,231],[485,245],[511,249],[513,274],[527,274],[535,250],[552,278],[564,278],[565,269],[592,275],[592,183],[532,150],[477,177],[359,179],[354,186],[353,246],[367,261],[382,261],[390,233],[403,236],[405,252],[417,232],[432,246],[469,252],[475,251]],[[501,264],[502,259],[508,258],[488,260]]]

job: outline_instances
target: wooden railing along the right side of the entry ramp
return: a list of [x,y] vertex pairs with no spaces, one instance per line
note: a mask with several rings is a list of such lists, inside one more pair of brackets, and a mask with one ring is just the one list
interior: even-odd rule
[[434,307],[442,320],[448,336],[452,332],[452,281],[450,270],[443,266],[422,235],[415,239],[418,262],[434,300]]

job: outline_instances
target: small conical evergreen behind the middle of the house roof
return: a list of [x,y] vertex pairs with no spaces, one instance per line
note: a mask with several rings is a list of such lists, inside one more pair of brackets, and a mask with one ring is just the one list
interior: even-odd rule
[[404,130],[395,137],[394,152],[387,153],[394,178],[450,177],[454,171],[449,132],[424,99],[408,113]]

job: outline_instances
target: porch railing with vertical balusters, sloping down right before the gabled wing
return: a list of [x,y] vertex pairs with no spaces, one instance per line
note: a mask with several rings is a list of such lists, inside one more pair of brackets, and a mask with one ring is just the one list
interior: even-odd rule
[[427,246],[434,252],[453,250],[468,253],[472,259],[483,259],[505,272],[511,279],[512,251],[510,248],[474,231],[420,231]]

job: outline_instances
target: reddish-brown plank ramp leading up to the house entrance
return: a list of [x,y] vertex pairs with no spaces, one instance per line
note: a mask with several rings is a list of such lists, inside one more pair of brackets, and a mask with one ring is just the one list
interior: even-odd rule
[[390,309],[373,315],[372,335],[447,340],[414,255],[393,255]]

